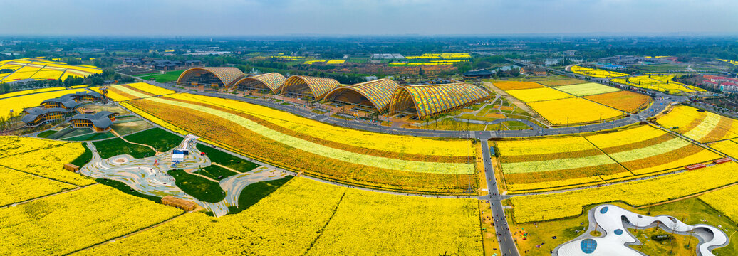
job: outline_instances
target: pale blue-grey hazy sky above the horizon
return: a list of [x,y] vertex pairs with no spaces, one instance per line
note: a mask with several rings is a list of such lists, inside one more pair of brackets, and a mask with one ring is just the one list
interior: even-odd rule
[[738,0],[0,0],[0,35],[738,34]]

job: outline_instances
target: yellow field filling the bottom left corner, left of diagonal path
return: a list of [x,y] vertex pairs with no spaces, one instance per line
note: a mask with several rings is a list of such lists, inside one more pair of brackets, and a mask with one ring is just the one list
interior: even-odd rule
[[0,209],[0,255],[66,255],[181,213],[97,184]]

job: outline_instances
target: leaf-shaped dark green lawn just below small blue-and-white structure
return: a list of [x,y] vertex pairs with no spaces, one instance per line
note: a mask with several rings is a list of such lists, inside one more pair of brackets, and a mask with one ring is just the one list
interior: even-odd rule
[[225,191],[218,182],[192,175],[184,170],[170,170],[167,173],[174,177],[174,183],[184,191],[200,201],[217,203],[226,198]]

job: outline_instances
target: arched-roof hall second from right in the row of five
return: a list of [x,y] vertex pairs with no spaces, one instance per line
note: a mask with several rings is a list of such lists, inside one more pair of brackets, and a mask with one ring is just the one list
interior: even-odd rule
[[387,111],[392,93],[399,85],[395,81],[382,78],[350,86],[340,86],[325,94],[324,100],[337,101],[376,108],[380,113]]

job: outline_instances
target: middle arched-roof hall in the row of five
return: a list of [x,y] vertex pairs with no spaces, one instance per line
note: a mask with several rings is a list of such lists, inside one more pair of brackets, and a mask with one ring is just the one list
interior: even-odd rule
[[306,95],[320,100],[328,91],[339,86],[341,83],[331,78],[293,75],[284,82],[280,93]]

